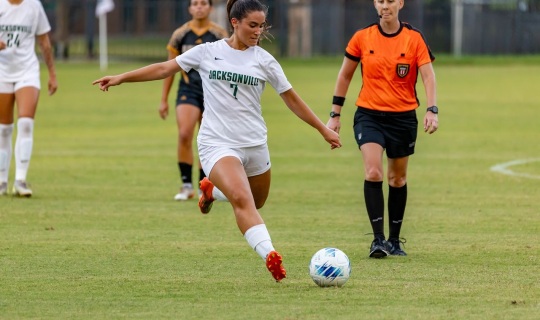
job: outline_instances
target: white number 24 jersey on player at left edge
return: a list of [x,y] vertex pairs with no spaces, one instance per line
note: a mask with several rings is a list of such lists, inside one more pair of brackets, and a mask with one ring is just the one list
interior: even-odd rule
[[0,81],[17,82],[25,75],[39,76],[36,36],[50,30],[40,1],[24,0],[14,5],[0,0],[0,40],[7,45],[0,50]]

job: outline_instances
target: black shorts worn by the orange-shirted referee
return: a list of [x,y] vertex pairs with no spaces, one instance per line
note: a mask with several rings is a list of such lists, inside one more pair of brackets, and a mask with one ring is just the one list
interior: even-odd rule
[[374,142],[386,149],[390,159],[414,153],[418,135],[416,110],[382,112],[358,107],[354,114],[354,137],[358,146]]

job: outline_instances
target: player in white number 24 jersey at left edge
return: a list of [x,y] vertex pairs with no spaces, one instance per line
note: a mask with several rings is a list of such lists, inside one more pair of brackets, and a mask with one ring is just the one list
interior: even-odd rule
[[41,2],[36,0],[0,0],[0,14],[0,196],[8,191],[16,104],[18,120],[12,194],[30,197],[32,190],[26,176],[41,88],[36,38],[49,71],[49,95],[58,87],[48,35],[51,26]]

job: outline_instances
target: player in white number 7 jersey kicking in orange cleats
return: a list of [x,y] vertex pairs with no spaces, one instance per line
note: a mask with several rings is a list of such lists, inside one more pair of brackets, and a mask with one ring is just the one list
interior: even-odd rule
[[240,232],[266,260],[274,279],[281,281],[286,276],[282,257],[257,210],[270,190],[267,128],[260,105],[265,84],[272,85],[294,114],[319,131],[331,149],[341,147],[341,142],[293,90],[276,59],[257,45],[266,30],[267,7],[258,0],[229,0],[227,13],[233,29],[230,38],[200,44],[175,59],[106,76],[93,84],[108,91],[124,82],[199,71],[205,110],[197,143],[209,178],[201,182],[199,207],[207,213],[214,199],[228,199]]

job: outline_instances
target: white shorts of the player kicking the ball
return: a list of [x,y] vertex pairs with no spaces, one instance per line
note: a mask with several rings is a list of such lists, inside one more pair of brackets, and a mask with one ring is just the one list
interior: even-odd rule
[[248,177],[257,176],[270,170],[270,152],[268,145],[255,147],[231,148],[199,144],[199,159],[204,173],[209,176],[214,165],[224,157],[235,157],[242,163]]

